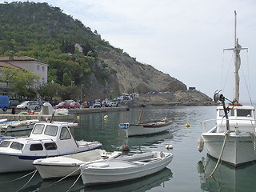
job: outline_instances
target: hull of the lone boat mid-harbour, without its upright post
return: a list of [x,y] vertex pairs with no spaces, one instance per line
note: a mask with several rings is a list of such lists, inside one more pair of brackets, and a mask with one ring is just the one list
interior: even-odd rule
[[[159,121],[164,122],[164,121]],[[152,122],[144,122],[144,123],[138,123],[138,124],[130,124],[130,127],[127,129],[128,137],[132,136],[140,136],[140,135],[146,135],[146,134],[159,134],[162,132],[165,132],[167,130],[170,130],[171,122],[168,121],[166,123],[159,124],[158,126],[154,126]]]

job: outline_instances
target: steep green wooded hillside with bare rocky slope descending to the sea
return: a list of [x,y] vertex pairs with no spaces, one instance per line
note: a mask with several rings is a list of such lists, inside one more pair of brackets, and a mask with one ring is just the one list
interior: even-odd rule
[[[86,11],[86,10],[85,10]],[[186,85],[131,58],[78,19],[47,3],[0,4],[0,57],[18,55],[49,64],[48,82],[76,91],[62,98],[118,97],[122,93],[186,90]],[[82,52],[74,49],[74,44]],[[82,91],[82,93],[81,93]],[[58,90],[61,93],[61,90]]]

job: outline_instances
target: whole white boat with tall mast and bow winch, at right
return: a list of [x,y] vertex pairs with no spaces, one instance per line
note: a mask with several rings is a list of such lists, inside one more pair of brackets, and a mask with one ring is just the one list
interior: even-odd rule
[[[226,162],[232,166],[241,166],[256,160],[254,107],[239,103],[239,75],[241,65],[240,51],[246,50],[238,44],[236,38],[236,11],[234,11],[234,100],[225,98],[220,91],[214,94],[214,101],[222,106],[217,107],[215,126],[207,131],[210,120],[202,122],[202,135],[198,140],[198,150],[203,146],[210,156],[218,162]],[[226,105],[226,101],[230,102]],[[215,121],[215,120],[214,120]]]

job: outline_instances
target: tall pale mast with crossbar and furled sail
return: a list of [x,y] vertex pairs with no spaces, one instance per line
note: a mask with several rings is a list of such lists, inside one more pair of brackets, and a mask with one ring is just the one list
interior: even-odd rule
[[234,48],[224,49],[224,50],[233,50],[234,51],[234,100],[233,102],[239,102],[239,74],[238,70],[241,66],[240,50],[248,50],[248,48],[242,48],[238,44],[237,38],[237,12],[234,11]]

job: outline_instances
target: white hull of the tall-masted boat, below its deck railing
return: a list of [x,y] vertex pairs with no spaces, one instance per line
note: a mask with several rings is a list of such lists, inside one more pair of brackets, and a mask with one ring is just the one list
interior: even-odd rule
[[[232,166],[241,166],[246,162],[256,160],[254,151],[254,136],[248,133],[232,132],[226,138],[226,144],[222,153],[222,162],[226,162]],[[204,145],[208,154],[214,158],[219,158],[223,142],[224,133],[205,133],[202,134]]]

